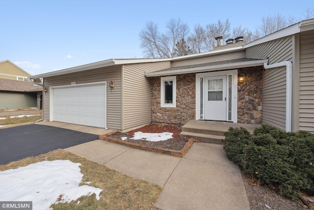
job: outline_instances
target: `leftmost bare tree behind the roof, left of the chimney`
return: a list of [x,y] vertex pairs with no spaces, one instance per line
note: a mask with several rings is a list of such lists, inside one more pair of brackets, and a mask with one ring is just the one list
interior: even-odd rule
[[139,34],[143,53],[146,58],[172,58],[176,54],[176,44],[188,33],[187,24],[180,18],[167,22],[165,33],[159,32],[154,22],[148,22]]

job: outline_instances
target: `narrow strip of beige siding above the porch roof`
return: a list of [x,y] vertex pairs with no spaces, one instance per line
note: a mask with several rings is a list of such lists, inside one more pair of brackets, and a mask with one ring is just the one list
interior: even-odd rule
[[244,58],[244,56],[245,56],[244,51],[238,51],[238,52],[226,53],[223,55],[213,55],[213,56],[185,59],[185,60],[174,60],[171,62],[171,67],[215,62],[215,61],[221,61],[221,60],[241,59],[241,58]]

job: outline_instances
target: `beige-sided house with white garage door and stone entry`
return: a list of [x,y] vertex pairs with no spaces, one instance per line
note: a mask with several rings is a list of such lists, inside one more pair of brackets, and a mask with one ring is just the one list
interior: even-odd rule
[[48,90],[44,120],[120,130],[217,120],[314,132],[314,19],[207,53],[110,59],[29,78]]

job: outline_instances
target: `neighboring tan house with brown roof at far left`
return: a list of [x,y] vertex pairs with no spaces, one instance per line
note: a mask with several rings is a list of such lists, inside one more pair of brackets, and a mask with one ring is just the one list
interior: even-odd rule
[[28,82],[31,76],[10,60],[0,61],[0,110],[42,109],[43,88],[40,84]]

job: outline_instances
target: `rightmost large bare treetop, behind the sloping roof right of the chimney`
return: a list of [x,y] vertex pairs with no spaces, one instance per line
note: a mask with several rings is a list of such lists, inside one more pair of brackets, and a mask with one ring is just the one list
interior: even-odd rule
[[260,24],[258,30],[261,37],[278,30],[282,30],[297,22],[293,16],[285,17],[279,13],[273,16],[264,16],[261,21],[262,23]]

